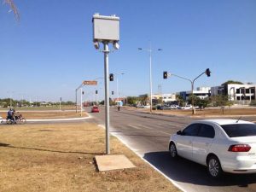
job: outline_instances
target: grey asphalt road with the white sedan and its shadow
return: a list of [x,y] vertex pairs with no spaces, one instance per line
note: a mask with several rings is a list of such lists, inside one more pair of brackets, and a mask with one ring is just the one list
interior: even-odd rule
[[[88,112],[90,108],[86,109]],[[90,113],[97,124],[104,125],[104,110]],[[255,121],[255,117],[242,118]],[[132,150],[171,178],[185,191],[256,191],[256,174],[224,174],[219,180],[207,176],[206,167],[179,158],[172,160],[168,154],[168,141],[172,133],[183,129],[193,119],[161,116],[138,111],[110,108],[110,132],[118,136]],[[111,143],[110,143],[111,147]]]

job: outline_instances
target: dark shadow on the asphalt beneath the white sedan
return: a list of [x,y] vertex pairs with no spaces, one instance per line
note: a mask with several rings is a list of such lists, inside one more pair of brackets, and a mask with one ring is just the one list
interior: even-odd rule
[[213,179],[207,174],[207,166],[201,166],[181,157],[173,160],[168,151],[147,153],[144,154],[143,158],[167,177],[177,182],[205,186],[237,186],[244,188],[247,188],[251,183],[256,183],[256,174],[240,175],[224,173],[219,179]]

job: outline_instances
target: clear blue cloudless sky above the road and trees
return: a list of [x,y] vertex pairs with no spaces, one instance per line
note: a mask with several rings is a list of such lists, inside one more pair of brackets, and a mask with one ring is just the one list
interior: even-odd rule
[[[74,101],[84,80],[84,99],[103,98],[104,57],[92,43],[92,16],[120,18],[120,48],[109,54],[109,91],[116,97],[218,86],[227,80],[256,84],[255,0],[15,0],[20,21],[0,3],[0,98]],[[112,46],[110,46],[111,49]],[[158,51],[157,49],[162,49]],[[121,74],[125,73],[125,74]],[[99,90],[99,96],[95,96]]]

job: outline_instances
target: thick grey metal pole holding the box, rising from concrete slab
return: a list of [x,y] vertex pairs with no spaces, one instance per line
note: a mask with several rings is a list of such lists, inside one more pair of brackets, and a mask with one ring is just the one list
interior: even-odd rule
[[105,127],[106,127],[106,154],[110,154],[109,147],[109,96],[108,96],[108,42],[104,44],[104,78],[105,78]]

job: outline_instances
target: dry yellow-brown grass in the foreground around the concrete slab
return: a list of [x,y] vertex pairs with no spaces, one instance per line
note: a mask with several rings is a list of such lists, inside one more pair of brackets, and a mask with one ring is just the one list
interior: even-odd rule
[[104,131],[90,123],[0,126],[0,189],[7,191],[178,191],[111,137],[112,154],[137,168],[97,172]]

